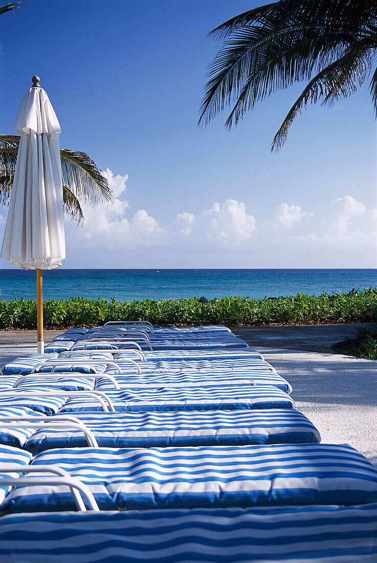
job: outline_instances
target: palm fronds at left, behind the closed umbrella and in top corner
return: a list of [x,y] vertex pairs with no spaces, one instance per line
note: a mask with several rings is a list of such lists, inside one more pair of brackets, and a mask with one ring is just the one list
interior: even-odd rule
[[[0,6],[0,15],[20,7],[20,2]],[[20,137],[0,135],[0,205],[9,203]],[[89,205],[112,202],[113,191],[96,164],[86,153],[61,149],[63,203],[66,213],[78,222],[83,219],[80,200]]]

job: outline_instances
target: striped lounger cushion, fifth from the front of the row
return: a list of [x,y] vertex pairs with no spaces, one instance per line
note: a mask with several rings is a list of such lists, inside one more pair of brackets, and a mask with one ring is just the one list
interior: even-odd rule
[[[120,364],[119,367],[122,368]],[[127,368],[127,366],[125,366]],[[272,385],[290,394],[292,387],[281,376],[268,370],[249,370],[247,372],[227,372],[227,370],[203,370],[203,372],[185,373],[128,373],[121,376],[114,368],[108,368],[105,373],[112,374],[118,381],[120,388],[135,387],[203,387],[212,385],[241,385],[253,382],[254,385]],[[104,391],[114,389],[109,379],[98,377],[96,389]]]

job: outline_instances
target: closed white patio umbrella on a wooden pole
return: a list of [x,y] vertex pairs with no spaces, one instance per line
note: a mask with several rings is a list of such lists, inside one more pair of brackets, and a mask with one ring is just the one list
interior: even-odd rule
[[33,77],[14,126],[21,136],[1,257],[37,269],[38,352],[43,345],[42,270],[65,258],[60,124],[46,92]]

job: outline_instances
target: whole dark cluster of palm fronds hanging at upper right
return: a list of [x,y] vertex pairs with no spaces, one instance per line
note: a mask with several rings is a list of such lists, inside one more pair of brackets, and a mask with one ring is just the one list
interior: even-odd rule
[[[375,0],[280,0],[248,10],[210,32],[223,45],[209,66],[199,122],[207,124],[232,105],[226,126],[236,125],[258,101],[295,82],[307,85],[272,141],[311,102],[331,105],[356,92],[377,53]],[[377,116],[377,69],[370,82]]]

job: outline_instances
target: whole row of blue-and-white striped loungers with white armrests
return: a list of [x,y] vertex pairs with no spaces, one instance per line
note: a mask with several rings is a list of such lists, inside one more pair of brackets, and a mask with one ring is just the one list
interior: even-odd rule
[[0,561],[377,560],[377,469],[222,326],[69,329],[0,374]]

